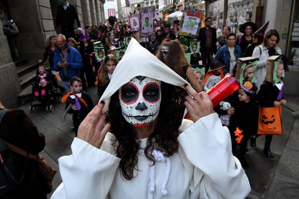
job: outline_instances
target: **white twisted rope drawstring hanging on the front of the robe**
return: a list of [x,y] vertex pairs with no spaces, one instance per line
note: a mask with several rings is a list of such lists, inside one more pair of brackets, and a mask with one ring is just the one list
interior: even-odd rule
[[[139,149],[139,152],[144,154],[144,149]],[[152,155],[154,156],[156,161],[166,162],[166,172],[165,172],[165,177],[164,177],[164,180],[163,180],[162,186],[161,186],[161,193],[162,193],[162,195],[167,195],[168,191],[166,189],[166,186],[167,186],[167,183],[169,180],[170,169],[171,169],[170,158],[165,157],[161,151],[157,151],[156,149],[153,150]],[[152,164],[153,164],[153,162],[152,162]],[[149,191],[150,192],[155,191],[155,164],[153,166],[151,166]]]

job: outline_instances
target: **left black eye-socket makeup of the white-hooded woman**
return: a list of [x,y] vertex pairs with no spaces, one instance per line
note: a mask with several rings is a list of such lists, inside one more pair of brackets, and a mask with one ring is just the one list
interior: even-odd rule
[[139,95],[138,88],[133,84],[126,84],[121,87],[120,99],[126,104],[133,104],[137,101]]

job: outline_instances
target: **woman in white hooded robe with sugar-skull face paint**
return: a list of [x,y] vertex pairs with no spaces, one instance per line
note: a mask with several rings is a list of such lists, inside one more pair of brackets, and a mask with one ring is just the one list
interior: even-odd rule
[[71,149],[58,159],[53,199],[243,199],[251,190],[208,95],[134,38]]

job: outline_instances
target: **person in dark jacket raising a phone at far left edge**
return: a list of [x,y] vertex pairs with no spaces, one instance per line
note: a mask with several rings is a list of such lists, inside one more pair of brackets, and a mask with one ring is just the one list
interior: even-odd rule
[[13,22],[11,26],[6,25],[2,27],[2,29],[4,35],[7,37],[11,58],[13,61],[16,61],[19,58],[19,53],[15,42],[15,37],[19,34],[18,27],[16,27],[16,24]]

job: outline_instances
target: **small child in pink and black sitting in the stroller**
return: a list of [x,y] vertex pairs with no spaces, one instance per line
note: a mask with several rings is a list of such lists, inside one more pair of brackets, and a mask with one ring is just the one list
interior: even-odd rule
[[46,94],[46,86],[50,80],[50,76],[46,71],[45,65],[40,65],[38,67],[39,74],[36,75],[35,81],[33,82],[32,91],[34,96],[43,96]]

